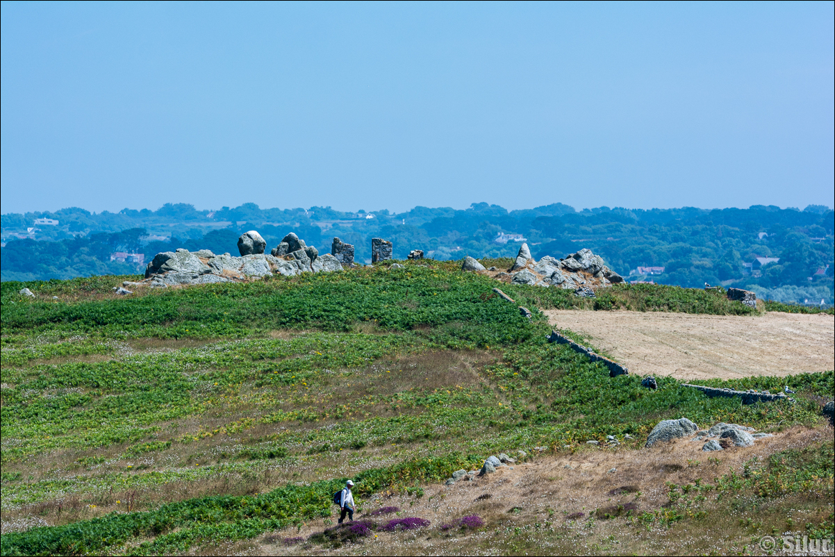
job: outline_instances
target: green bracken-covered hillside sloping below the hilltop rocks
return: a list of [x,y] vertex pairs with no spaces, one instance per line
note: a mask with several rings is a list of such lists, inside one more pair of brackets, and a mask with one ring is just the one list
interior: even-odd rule
[[[620,285],[586,300],[503,286],[529,320],[488,277],[405,265],[128,297],[111,288],[131,277],[3,282],[2,554],[199,551],[331,516],[346,467],[362,507],[382,491],[419,497],[491,453],[627,433],[638,448],[682,415],[816,427],[835,389],[830,370],[711,382],[789,382],[793,404],[741,406],[669,377],[650,391],[546,342],[536,309],[762,311],[720,292]],[[831,507],[831,462],[810,462]],[[809,477],[726,489],[779,498]]]

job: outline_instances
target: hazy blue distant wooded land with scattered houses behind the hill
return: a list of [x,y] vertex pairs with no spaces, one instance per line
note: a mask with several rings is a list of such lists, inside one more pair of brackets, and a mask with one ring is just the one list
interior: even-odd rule
[[[33,227],[36,218],[59,224],[38,226],[28,233],[41,241],[14,237]],[[499,233],[509,233],[522,235],[536,257],[564,256],[588,247],[624,276],[639,266],[659,266],[664,267],[660,275],[633,278],[692,287],[705,282],[732,284],[777,299],[782,296],[783,301],[823,298],[832,303],[833,221],[835,214],[821,205],[805,210],[754,205],[724,210],[576,211],[558,203],[508,211],[479,203],[467,210],[416,207],[399,214],[347,213],[330,207],[262,210],[255,204],[216,211],[184,204],[100,214],[67,209],[3,215],[8,243],[2,251],[2,274],[3,280],[21,280],[135,269],[109,261],[114,251],[141,252],[147,258],[177,247],[235,253],[238,235],[251,229],[259,230],[270,247],[294,231],[320,251],[330,251],[332,237],[339,236],[357,246],[359,261],[370,257],[375,236],[393,241],[395,256],[401,259],[412,249],[423,249],[437,259],[515,256],[519,243],[495,242]],[[153,240],[149,235],[165,239]],[[763,266],[754,273],[761,276],[753,276],[744,264],[757,257],[780,261]]]

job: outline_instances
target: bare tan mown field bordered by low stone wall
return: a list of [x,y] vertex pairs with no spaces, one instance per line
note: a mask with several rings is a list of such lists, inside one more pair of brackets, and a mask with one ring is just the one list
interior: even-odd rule
[[590,337],[595,347],[638,375],[731,379],[835,367],[835,320],[826,314],[544,313],[554,327]]

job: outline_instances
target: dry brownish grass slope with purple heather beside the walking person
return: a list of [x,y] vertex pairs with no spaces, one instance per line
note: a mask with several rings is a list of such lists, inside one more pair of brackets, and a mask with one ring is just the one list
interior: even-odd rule
[[[787,448],[832,440],[832,428],[795,427],[763,438],[751,448],[702,453],[699,442],[681,439],[655,448],[574,448],[535,458],[533,462],[498,468],[493,474],[451,486],[431,485],[423,498],[405,495],[360,501],[362,516],[373,509],[397,506],[398,516],[428,519],[432,525],[416,532],[384,534],[362,543],[345,544],[346,554],[725,554],[744,550],[751,536],[787,529],[794,524],[831,517],[832,501],[797,494],[759,499],[746,492],[716,501],[716,492],[701,503],[706,514],[686,516],[669,526],[642,523],[635,517],[670,507],[668,484],[699,480],[714,483],[757,458],[765,463]],[[716,460],[708,461],[708,458]],[[570,468],[568,468],[570,467]],[[610,469],[617,472],[611,473]],[[336,508],[334,507],[334,512]],[[594,519],[595,513],[598,515]],[[442,531],[469,514],[485,527],[476,531]],[[574,515],[573,519],[566,519]],[[245,551],[275,554],[276,539],[303,537],[330,527],[317,519],[301,528],[273,532],[241,544]],[[357,518],[357,517],[355,517]],[[815,522],[815,524],[817,524]],[[268,540],[272,540],[269,542]],[[321,554],[312,543],[293,546],[295,554]]]

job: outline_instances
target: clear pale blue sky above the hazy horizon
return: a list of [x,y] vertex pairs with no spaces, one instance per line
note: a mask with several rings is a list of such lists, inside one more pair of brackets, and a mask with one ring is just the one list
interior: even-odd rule
[[832,206],[833,6],[3,2],[2,211]]

